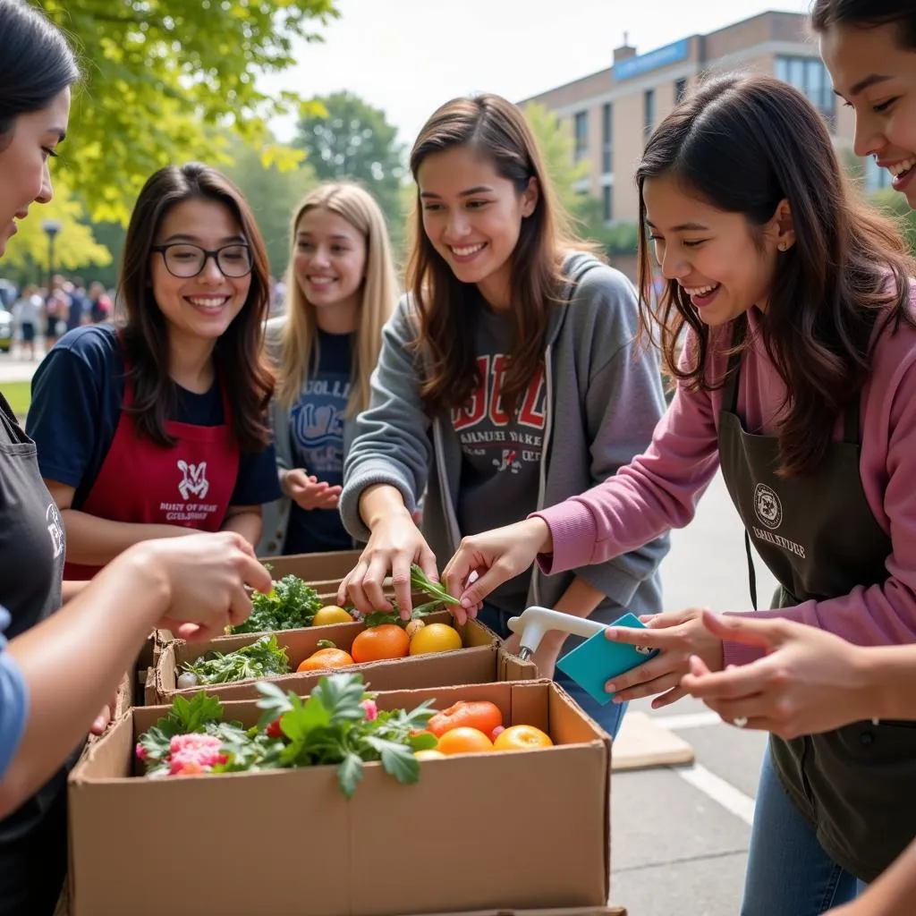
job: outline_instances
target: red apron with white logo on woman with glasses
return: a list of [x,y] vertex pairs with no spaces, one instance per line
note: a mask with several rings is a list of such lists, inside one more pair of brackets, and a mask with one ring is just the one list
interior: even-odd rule
[[[196,426],[166,422],[175,444],[164,447],[136,434],[133,417],[121,410],[114,439],[99,475],[79,507],[112,521],[180,525],[218,531],[238,479],[239,448],[229,424],[223,392],[223,424]],[[130,367],[125,365],[124,407],[134,402]],[[101,566],[64,565],[64,579],[91,579]]]

